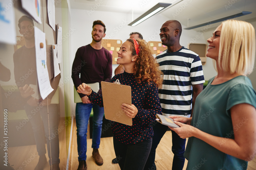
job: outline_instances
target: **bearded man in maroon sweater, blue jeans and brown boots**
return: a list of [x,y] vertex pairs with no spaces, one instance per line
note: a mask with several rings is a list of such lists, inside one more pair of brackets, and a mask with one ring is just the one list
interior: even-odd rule
[[[92,42],[77,50],[72,66],[72,79],[74,86],[82,83],[99,83],[110,81],[112,76],[112,55],[102,47],[101,40],[105,37],[105,25],[97,20],[92,25]],[[80,74],[80,77],[79,77]],[[101,94],[101,86],[99,92]],[[93,130],[92,130],[92,157],[97,165],[103,164],[103,159],[99,154],[102,119],[104,108],[92,104],[88,97],[79,93],[82,102],[76,104],[76,125],[77,125],[77,149],[78,149],[78,170],[87,169],[87,126],[91,110],[93,109]]]

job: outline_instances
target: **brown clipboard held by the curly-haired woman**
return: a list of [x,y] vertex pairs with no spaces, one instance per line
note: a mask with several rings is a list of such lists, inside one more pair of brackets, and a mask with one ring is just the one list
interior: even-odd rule
[[121,106],[123,103],[132,105],[131,86],[101,82],[105,118],[132,126],[132,118],[126,116]]

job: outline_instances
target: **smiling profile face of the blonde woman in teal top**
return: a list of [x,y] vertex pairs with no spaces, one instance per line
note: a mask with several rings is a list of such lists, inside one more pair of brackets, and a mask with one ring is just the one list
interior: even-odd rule
[[209,43],[206,56],[212,59],[218,60],[219,56],[219,47],[220,47],[220,33],[221,33],[222,25],[216,28],[213,33],[213,36],[207,40]]

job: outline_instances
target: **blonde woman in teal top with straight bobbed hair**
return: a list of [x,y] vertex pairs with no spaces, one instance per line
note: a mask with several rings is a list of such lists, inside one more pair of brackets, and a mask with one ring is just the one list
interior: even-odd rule
[[197,96],[192,118],[170,116],[181,126],[171,129],[189,137],[187,169],[247,169],[256,151],[256,93],[246,76],[254,66],[255,30],[227,20],[207,41],[218,74]]

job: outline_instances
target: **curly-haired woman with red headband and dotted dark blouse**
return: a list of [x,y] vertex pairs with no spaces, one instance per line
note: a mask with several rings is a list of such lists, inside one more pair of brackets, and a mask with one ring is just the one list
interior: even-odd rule
[[[120,159],[118,164],[122,170],[143,169],[154,135],[151,124],[157,113],[162,114],[157,89],[162,86],[162,72],[145,40],[128,39],[117,53],[116,63],[122,64],[125,71],[115,75],[111,82],[119,79],[121,84],[131,86],[132,105],[124,103],[120,107],[132,118],[132,126],[112,122],[115,155]],[[103,107],[102,96],[87,84],[82,83],[77,92]]]

